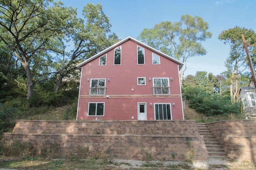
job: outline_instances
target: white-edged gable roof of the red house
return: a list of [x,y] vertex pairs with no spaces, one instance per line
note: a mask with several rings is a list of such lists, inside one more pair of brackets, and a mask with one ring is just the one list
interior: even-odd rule
[[154,52],[156,52],[156,53],[158,53],[158,54],[160,54],[160,55],[162,55],[162,56],[164,56],[164,57],[170,59],[171,61],[174,61],[174,62],[180,64],[180,65],[179,65],[179,70],[180,70],[180,69],[182,68],[182,66],[183,66],[183,63],[182,63],[181,61],[179,61],[179,60],[177,60],[177,59],[174,59],[173,57],[171,57],[171,56],[169,56],[169,55],[167,55],[167,54],[164,54],[164,53],[162,53],[161,51],[159,51],[159,50],[157,50],[157,49],[154,49],[153,47],[150,47],[149,45],[146,45],[146,44],[144,44],[144,43],[142,43],[142,42],[140,42],[140,41],[138,41],[138,40],[136,40],[136,39],[134,39],[134,38],[132,38],[132,37],[126,37],[125,39],[123,39],[123,40],[121,40],[121,41],[115,43],[114,45],[112,45],[112,46],[108,47],[107,49],[101,51],[100,53],[98,53],[98,54],[96,54],[96,55],[90,57],[89,59],[83,61],[82,63],[77,64],[76,67],[81,67],[82,65],[88,63],[89,61],[92,61],[93,59],[99,57],[100,55],[106,53],[107,51],[109,51],[109,50],[111,50],[111,49],[113,49],[113,48],[119,46],[120,44],[122,44],[122,43],[124,43],[124,42],[126,42],[126,41],[128,41],[128,40],[132,40],[132,41],[134,41],[134,42],[136,42],[136,43],[138,43],[138,44],[140,44],[140,45],[142,45],[142,46],[144,46],[144,47],[147,47],[148,49],[150,49],[150,50],[152,50],[152,51],[154,51]]

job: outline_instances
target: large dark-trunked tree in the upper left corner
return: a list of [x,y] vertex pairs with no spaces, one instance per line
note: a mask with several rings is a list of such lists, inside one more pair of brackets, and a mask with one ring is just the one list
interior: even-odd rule
[[0,0],[0,39],[26,71],[27,98],[34,92],[33,69],[72,28],[76,10],[53,0]]

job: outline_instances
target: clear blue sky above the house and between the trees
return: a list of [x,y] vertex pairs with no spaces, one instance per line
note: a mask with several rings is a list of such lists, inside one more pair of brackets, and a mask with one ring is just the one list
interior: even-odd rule
[[[161,21],[180,21],[185,14],[200,16],[209,24],[212,38],[202,43],[208,51],[204,56],[188,59],[185,75],[196,71],[214,75],[226,70],[224,62],[229,45],[218,40],[218,35],[235,26],[256,31],[256,0],[61,0],[65,6],[77,8],[78,17],[87,3],[102,4],[112,24],[111,31],[120,39],[137,38],[144,28],[152,28]],[[249,69],[248,69],[249,71]]]

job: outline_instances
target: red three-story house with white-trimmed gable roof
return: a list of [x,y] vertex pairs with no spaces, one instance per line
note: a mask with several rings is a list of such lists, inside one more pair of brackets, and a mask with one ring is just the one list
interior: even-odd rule
[[184,119],[179,70],[183,63],[127,37],[78,64],[76,119]]

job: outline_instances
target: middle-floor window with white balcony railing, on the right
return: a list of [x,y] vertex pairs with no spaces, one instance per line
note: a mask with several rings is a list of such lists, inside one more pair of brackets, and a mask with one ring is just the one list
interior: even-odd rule
[[154,78],[154,95],[170,95],[169,78]]

